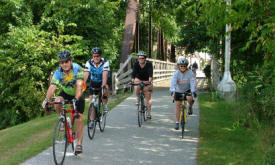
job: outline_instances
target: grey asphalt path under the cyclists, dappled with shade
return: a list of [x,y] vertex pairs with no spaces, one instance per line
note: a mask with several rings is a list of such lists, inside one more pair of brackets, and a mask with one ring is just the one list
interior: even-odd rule
[[[132,95],[112,109],[105,131],[99,128],[93,140],[83,139],[83,153],[74,156],[67,150],[65,165],[196,165],[199,108],[189,116],[186,133],[174,130],[174,103],[167,87],[156,87],[152,95],[152,120],[138,127],[135,97]],[[52,147],[25,161],[22,165],[54,164]]]

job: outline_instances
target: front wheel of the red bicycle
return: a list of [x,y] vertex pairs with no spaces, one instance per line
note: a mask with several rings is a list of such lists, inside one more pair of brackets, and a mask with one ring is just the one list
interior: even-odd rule
[[53,134],[53,157],[56,165],[64,162],[67,151],[68,138],[66,134],[65,119],[59,118]]

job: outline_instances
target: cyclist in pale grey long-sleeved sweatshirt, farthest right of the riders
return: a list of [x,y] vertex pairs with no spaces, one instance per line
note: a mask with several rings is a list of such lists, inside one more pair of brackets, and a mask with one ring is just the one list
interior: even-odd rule
[[175,106],[175,117],[176,117],[176,126],[175,129],[179,129],[179,119],[180,119],[180,109],[181,109],[181,94],[184,92],[188,92],[189,94],[186,96],[187,102],[189,103],[189,114],[192,114],[192,105],[193,98],[197,97],[196,87],[195,87],[195,79],[193,76],[193,72],[188,68],[188,60],[184,57],[179,57],[178,59],[178,70],[174,73],[170,84],[170,92],[172,97],[176,101]]

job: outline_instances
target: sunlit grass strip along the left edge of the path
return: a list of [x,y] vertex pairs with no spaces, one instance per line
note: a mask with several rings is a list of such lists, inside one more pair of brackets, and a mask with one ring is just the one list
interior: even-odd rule
[[[130,93],[111,96],[109,108],[112,109]],[[86,124],[88,102],[84,112]],[[53,128],[57,114],[40,117],[29,122],[0,130],[0,165],[19,164],[52,145]]]

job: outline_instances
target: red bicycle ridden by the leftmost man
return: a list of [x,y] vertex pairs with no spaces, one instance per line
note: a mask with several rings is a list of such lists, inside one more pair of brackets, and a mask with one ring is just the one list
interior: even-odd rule
[[[79,118],[79,114],[76,110],[75,105],[76,100],[64,100],[61,102],[48,102],[46,105],[46,113],[48,114],[49,111],[54,109],[48,109],[48,105],[53,104],[61,104],[62,105],[62,112],[59,118],[56,121],[56,125],[54,127],[53,133],[53,156],[54,162],[56,165],[62,165],[66,152],[67,147],[69,144],[72,145],[72,150],[74,155],[76,156],[77,153],[75,152],[75,148],[77,145],[77,138],[76,138],[76,128],[74,126],[75,119]],[[71,109],[66,109],[66,105],[70,104]],[[70,116],[67,116],[67,114]]]

